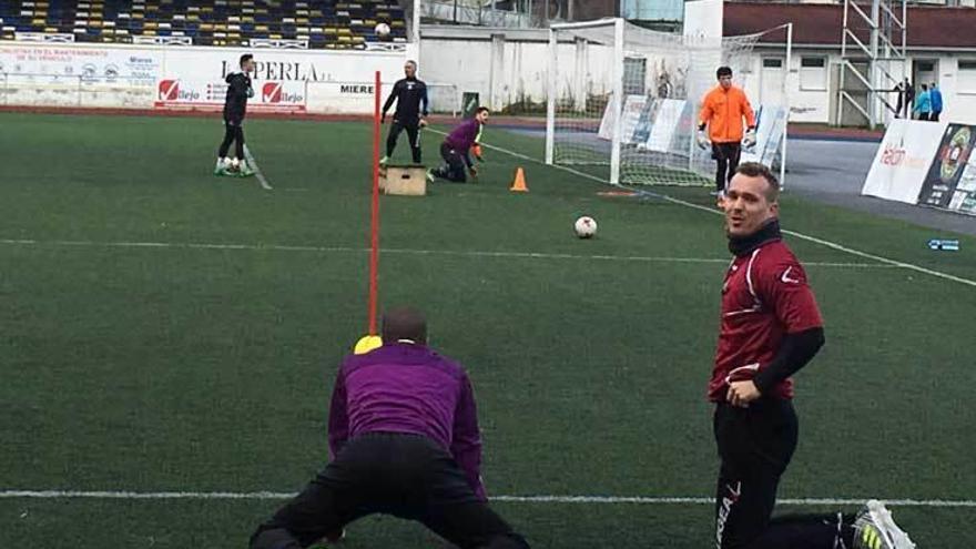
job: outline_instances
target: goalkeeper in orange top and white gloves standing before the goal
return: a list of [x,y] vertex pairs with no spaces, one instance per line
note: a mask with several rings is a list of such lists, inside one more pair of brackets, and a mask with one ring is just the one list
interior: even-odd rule
[[[712,148],[715,159],[715,192],[720,199],[725,194],[725,185],[735,175],[742,145],[755,144],[755,113],[741,88],[732,85],[732,69],[719,67],[715,72],[719,85],[702,100],[699,115],[698,144],[702,149]],[[742,119],[748,131],[743,135]],[[708,128],[708,133],[705,133]]]

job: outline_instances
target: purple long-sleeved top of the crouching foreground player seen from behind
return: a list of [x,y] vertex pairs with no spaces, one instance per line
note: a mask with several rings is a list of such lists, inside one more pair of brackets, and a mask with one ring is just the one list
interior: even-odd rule
[[460,365],[427,346],[386,344],[343,360],[328,415],[333,458],[348,439],[366,433],[430,438],[454,456],[475,494],[486,498],[471,382]]

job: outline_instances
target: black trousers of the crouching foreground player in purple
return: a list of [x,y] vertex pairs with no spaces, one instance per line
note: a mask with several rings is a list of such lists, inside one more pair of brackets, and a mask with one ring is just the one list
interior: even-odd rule
[[454,458],[433,440],[394,433],[356,437],[292,501],[261,525],[252,549],[298,549],[382,512],[417,520],[468,548],[528,549],[480,501]]

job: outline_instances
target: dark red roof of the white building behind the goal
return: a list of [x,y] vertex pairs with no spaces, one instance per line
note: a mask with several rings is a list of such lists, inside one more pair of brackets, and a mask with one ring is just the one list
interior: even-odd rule
[[[843,18],[843,4],[725,2],[722,33],[726,37],[753,34],[792,22],[794,44],[840,47]],[[909,48],[976,49],[973,29],[976,29],[976,9],[973,8],[908,8]],[[866,32],[865,28],[858,35]],[[777,32],[761,41],[783,42],[784,39],[785,33]],[[895,43],[901,43],[901,37]]]

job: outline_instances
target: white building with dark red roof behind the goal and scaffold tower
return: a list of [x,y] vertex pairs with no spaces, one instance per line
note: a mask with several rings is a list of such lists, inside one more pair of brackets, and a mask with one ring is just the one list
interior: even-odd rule
[[[976,123],[976,9],[938,3],[908,8],[906,62],[893,62],[888,70],[898,78],[904,73],[916,90],[923,83],[937,84],[945,103],[943,119]],[[784,33],[761,38],[753,50],[746,79],[753,101],[779,103],[786,93],[791,121],[857,124],[856,118],[837,119],[842,3],[725,2],[723,34],[752,34],[787,22],[793,23],[789,68]],[[892,105],[897,103],[896,93],[888,92],[888,98]]]

